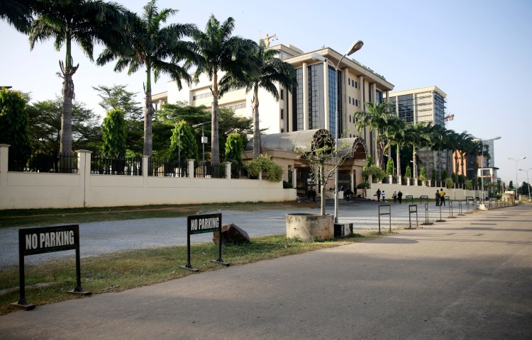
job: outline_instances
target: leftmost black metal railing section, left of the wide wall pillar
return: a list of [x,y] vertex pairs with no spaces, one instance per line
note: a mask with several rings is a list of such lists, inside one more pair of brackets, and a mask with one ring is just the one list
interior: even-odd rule
[[10,153],[8,171],[77,174],[77,154],[34,152],[28,157]]

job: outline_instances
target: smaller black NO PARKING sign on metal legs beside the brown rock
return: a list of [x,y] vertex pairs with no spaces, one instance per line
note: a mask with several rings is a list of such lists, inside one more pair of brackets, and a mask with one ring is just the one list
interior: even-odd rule
[[221,257],[221,245],[223,243],[221,239],[221,218],[221,213],[187,216],[187,264],[180,266],[181,268],[189,271],[199,271],[199,269],[194,268],[190,263],[190,235],[216,231],[218,231],[218,259],[211,260],[211,262],[223,266],[229,266],[231,264],[223,261]]

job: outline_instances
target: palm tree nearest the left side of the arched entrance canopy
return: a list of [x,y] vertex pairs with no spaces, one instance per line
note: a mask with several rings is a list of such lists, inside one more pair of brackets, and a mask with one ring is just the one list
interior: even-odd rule
[[277,55],[279,50],[268,50],[266,43],[260,40],[253,50],[253,67],[245,70],[242,79],[226,77],[220,81],[220,93],[228,89],[245,87],[246,93],[253,91],[251,101],[253,112],[253,159],[258,159],[260,154],[260,128],[259,128],[259,89],[265,89],[272,94],[276,101],[279,100],[279,86],[292,91],[297,86],[294,67],[283,62]]

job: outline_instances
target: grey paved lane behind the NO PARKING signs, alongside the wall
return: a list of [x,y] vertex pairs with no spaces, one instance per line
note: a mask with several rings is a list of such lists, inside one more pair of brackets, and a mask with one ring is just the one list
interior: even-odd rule
[[[327,212],[333,213],[333,200],[327,202]],[[419,205],[419,222],[421,223]],[[436,219],[436,207],[431,206],[431,217]],[[201,213],[221,212],[223,223],[234,223],[243,228],[250,237],[286,233],[287,210],[206,210]],[[300,212],[318,213],[319,209],[303,209]],[[341,223],[355,223],[355,229],[378,228],[378,204],[372,200],[340,200],[338,216]],[[424,214],[424,210],[423,210]],[[448,210],[443,210],[449,215]],[[413,215],[414,216],[414,215]],[[439,217],[439,215],[438,215]],[[389,225],[389,217],[382,216],[382,225]],[[424,215],[423,215],[424,218]],[[415,216],[414,216],[415,220]],[[388,224],[387,224],[388,223]],[[392,205],[392,226],[409,225],[408,206]],[[126,249],[155,248],[187,244],[187,217],[123,220],[112,222],[81,223],[79,225],[80,253],[82,257],[96,256]],[[191,242],[210,242],[211,234],[199,234]],[[74,256],[74,251],[27,256],[26,263],[41,263],[50,259]],[[0,268],[18,264],[18,227],[0,229]]]

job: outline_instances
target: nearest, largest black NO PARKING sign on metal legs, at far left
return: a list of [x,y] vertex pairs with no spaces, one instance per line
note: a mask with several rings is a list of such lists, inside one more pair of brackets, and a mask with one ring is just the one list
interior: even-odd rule
[[35,305],[26,302],[26,277],[24,256],[52,253],[65,250],[76,251],[76,287],[68,293],[91,295],[82,288],[81,260],[79,259],[79,225],[57,225],[18,229],[18,271],[20,298],[11,305],[24,310],[33,310]]

